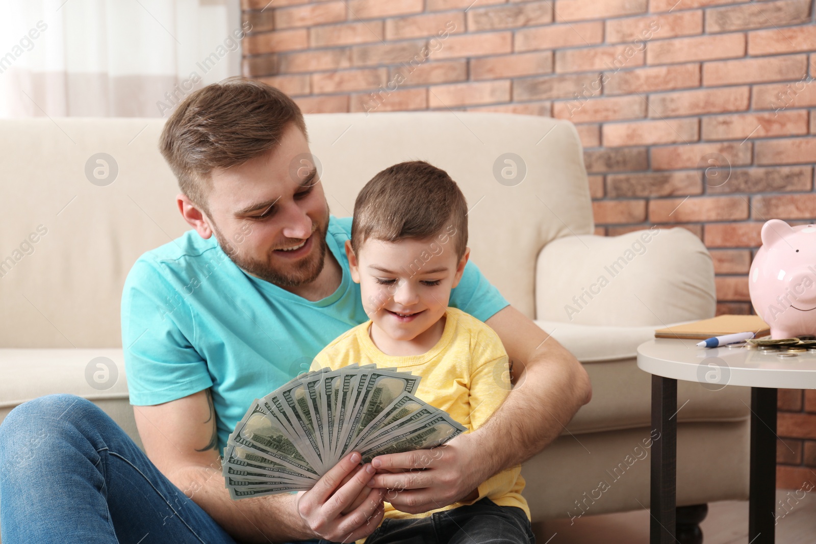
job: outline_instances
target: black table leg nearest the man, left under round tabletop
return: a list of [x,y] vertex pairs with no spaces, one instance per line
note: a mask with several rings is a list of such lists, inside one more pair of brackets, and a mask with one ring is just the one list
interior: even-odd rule
[[[674,544],[676,525],[677,380],[652,375],[651,544]],[[655,431],[657,431],[656,434]]]

